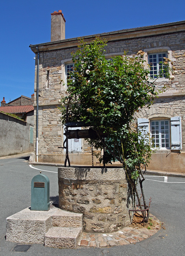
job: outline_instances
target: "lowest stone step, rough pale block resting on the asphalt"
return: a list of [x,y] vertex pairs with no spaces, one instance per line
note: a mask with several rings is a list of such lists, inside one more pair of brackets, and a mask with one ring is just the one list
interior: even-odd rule
[[53,248],[76,248],[82,228],[52,227],[45,235],[45,246]]

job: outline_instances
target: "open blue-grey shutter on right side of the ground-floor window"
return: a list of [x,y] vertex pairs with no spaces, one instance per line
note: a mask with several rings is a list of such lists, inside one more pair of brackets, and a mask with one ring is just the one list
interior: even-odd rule
[[182,149],[181,117],[171,118],[171,149]]

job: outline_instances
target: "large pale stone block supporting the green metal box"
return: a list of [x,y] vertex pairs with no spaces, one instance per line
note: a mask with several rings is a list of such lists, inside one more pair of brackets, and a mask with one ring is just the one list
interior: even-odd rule
[[42,243],[45,233],[52,226],[52,214],[49,211],[31,211],[26,208],[6,219],[6,240],[14,243]]

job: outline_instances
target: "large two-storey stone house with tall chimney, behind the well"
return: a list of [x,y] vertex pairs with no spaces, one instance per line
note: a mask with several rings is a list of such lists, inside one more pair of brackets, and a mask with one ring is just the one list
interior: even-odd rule
[[[62,11],[51,13],[51,42],[30,45],[39,62],[38,161],[64,163],[64,130],[60,123],[59,100],[65,95],[66,80],[73,69],[71,52],[79,44],[78,38],[65,39],[65,19]],[[156,87],[166,85],[150,109],[136,113],[139,127],[151,132],[156,153],[148,169],[185,173],[185,21],[131,28],[84,36],[86,42],[95,37],[107,41],[106,57],[145,52],[150,63],[150,78],[159,73],[163,57],[173,61],[177,74],[172,80],[161,77]],[[146,66],[147,68],[147,66]],[[172,74],[171,74],[172,75]],[[35,80],[35,91],[37,82]],[[36,98],[34,102],[36,106]],[[34,136],[35,137],[35,136]],[[69,145],[72,164],[92,165],[91,147],[84,139],[71,139]]]

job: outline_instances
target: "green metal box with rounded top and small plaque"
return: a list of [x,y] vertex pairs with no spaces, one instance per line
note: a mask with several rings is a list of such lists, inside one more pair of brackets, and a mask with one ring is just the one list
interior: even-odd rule
[[31,180],[31,211],[48,211],[49,208],[49,178],[38,174]]

